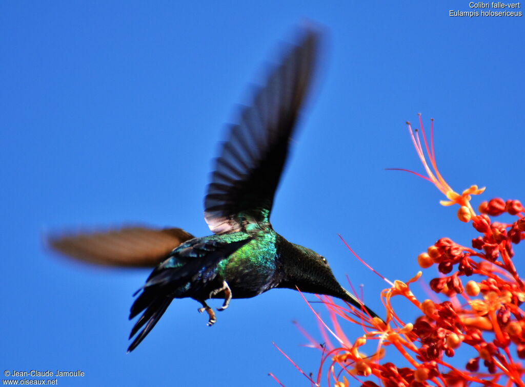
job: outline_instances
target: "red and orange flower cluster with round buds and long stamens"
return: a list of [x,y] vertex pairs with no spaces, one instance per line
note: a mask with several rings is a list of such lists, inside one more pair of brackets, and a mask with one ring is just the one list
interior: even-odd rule
[[[525,285],[512,263],[512,246],[525,239],[525,209],[518,200],[495,198],[482,202],[477,214],[470,199],[484,188],[472,186],[459,195],[446,184],[437,170],[432,143],[428,147],[421,117],[419,122],[429,163],[418,131],[407,123],[428,177],[418,176],[433,182],[444,193],[448,200],[442,201],[442,205],[458,205],[458,219],[470,222],[479,236],[472,239],[471,246],[441,238],[417,257],[422,268],[437,265],[442,275],[432,279],[429,287],[445,301],[432,296],[420,302],[414,296],[410,286],[421,272],[406,283],[391,283],[382,292],[385,321],[371,318],[349,304],[341,307],[329,297],[319,296],[329,311],[332,328],[316,314],[327,344],[321,348],[316,380],[313,375],[307,378],[312,385],[321,385],[323,366],[327,365],[328,385],[333,383],[335,387],[348,387],[347,377],[355,378],[363,387],[470,384],[525,387],[522,380],[525,369],[520,362],[525,359],[525,313],[520,308],[525,301]],[[492,219],[504,213],[513,217],[511,222]],[[413,323],[403,322],[395,313],[392,298],[397,296],[421,311]],[[338,318],[361,325],[364,335],[350,341]],[[338,345],[332,345],[327,332]],[[372,354],[365,355],[361,350],[367,342],[376,346]],[[383,362],[387,348],[395,349],[389,356],[398,361]],[[450,358],[457,351],[461,351],[461,359],[466,354],[475,356],[466,363],[453,364]],[[396,365],[401,361],[403,367]]]

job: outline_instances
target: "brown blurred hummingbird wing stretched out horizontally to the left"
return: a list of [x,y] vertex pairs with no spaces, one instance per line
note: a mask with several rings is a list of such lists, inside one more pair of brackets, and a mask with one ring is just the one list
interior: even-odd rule
[[193,239],[182,229],[123,227],[48,239],[54,250],[80,261],[107,266],[153,267],[181,243]]

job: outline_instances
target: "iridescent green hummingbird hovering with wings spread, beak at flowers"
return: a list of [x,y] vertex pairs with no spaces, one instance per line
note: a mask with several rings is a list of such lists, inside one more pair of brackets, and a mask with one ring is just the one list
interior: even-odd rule
[[191,297],[216,321],[207,300],[250,298],[273,288],[340,298],[371,317],[377,315],[335,279],[327,260],[287,241],[270,223],[270,213],[290,138],[307,97],[318,56],[320,33],[300,31],[258,87],[251,103],[229,127],[204,198],[204,219],[213,235],[195,238],[180,229],[123,227],[51,237],[55,250],[83,261],[112,266],[152,267],[135,292],[134,350],[175,298]]

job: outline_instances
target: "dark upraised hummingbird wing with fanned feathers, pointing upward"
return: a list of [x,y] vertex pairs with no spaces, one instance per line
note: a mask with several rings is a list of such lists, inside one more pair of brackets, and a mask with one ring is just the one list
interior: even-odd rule
[[241,109],[239,123],[216,159],[204,201],[204,217],[216,234],[246,230],[248,224],[269,227],[269,217],[288,143],[312,78],[319,35],[302,33],[251,106]]

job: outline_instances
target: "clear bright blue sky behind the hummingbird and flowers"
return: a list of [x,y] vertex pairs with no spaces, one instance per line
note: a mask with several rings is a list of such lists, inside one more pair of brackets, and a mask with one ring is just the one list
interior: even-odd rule
[[456,190],[478,184],[482,199],[525,200],[523,17],[449,9],[470,10],[446,1],[2,2],[0,367],[86,373],[59,385],[277,385],[268,372],[307,385],[271,344],[317,370],[319,353],[300,346],[291,323],[321,341],[297,292],[234,299],[212,328],[194,300],[176,300],[126,355],[132,294],[148,271],[68,262],[41,235],[130,222],[208,234],[202,201],[225,124],[307,17],[325,29],[321,71],[272,223],[327,257],[341,283],[348,274],[365,284],[381,314],[385,283],[338,233],[405,280],[437,239],[477,236],[428,182],[385,171],[422,171],[405,121],[435,118],[440,171]]

